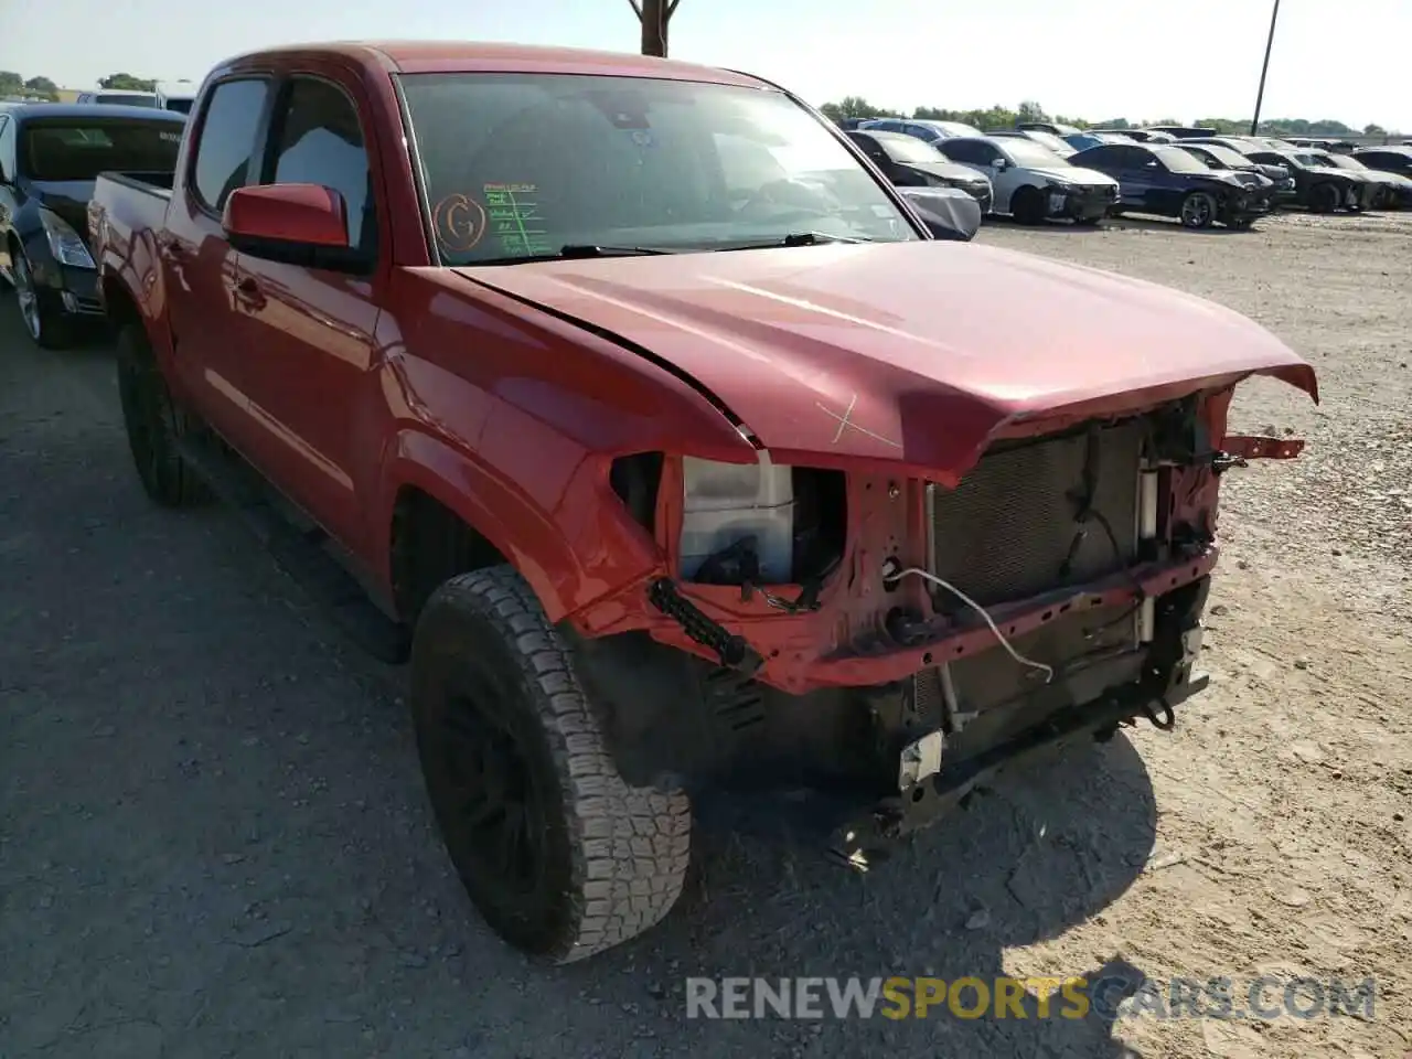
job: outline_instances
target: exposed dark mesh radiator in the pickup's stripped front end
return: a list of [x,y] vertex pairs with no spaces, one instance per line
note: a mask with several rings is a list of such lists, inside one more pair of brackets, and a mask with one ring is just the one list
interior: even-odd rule
[[[1025,599],[1113,573],[1137,556],[1141,422],[1097,432],[1091,501],[1113,528],[1076,521],[1086,433],[990,452],[956,489],[932,487],[931,568],[983,606]],[[957,600],[938,590],[936,604]]]

